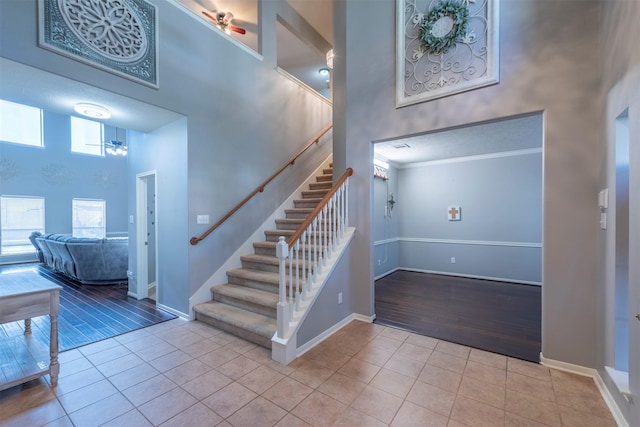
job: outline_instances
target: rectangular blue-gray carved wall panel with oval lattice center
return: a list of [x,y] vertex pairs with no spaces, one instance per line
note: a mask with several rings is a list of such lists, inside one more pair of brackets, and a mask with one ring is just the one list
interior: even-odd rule
[[158,88],[156,6],[145,0],[38,0],[40,47]]

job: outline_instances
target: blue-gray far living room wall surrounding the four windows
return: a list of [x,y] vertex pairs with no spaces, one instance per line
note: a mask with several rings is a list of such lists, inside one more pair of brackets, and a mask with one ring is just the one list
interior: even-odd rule
[[[0,142],[0,159],[15,175],[0,178],[0,195],[45,198],[45,232],[71,234],[74,198],[106,201],[106,232],[126,236],[127,158],[71,152],[69,116],[45,111],[44,148]],[[107,135],[112,128],[105,129]],[[35,255],[0,256],[0,263],[33,261]]]

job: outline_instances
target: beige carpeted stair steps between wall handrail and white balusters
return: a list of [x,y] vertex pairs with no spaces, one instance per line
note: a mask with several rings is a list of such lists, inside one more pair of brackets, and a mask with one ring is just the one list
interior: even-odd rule
[[193,307],[196,319],[270,349],[279,289],[276,243],[294,234],[332,185],[333,169],[323,169],[294,207],[285,209],[285,218],[276,219],[276,229],[265,230],[265,240],[254,242],[254,253],[241,257],[242,268],[227,271],[228,283],[211,288],[213,300]]

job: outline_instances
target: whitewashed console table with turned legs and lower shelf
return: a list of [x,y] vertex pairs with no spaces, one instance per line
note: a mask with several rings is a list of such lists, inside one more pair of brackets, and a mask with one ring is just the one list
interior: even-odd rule
[[[3,372],[0,377],[0,390],[31,381],[35,378],[49,374],[51,385],[58,383],[58,312],[60,300],[60,286],[55,285],[40,276],[35,275],[34,280],[21,277],[11,277],[11,274],[0,275],[0,323],[25,321],[25,335],[31,334],[31,318],[49,315],[51,321],[49,341],[49,363],[37,360],[37,357],[29,358],[13,357],[9,364],[8,373]],[[25,337],[29,342],[30,337]],[[26,346],[28,348],[28,345]],[[11,350],[9,350],[11,352]],[[3,357],[10,357],[6,354]],[[5,363],[6,360],[3,361]],[[15,368],[15,369],[11,369]]]

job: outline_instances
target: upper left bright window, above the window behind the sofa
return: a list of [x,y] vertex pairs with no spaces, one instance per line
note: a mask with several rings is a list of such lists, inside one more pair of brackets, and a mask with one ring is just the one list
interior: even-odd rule
[[0,141],[44,147],[42,110],[0,99]]

